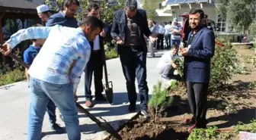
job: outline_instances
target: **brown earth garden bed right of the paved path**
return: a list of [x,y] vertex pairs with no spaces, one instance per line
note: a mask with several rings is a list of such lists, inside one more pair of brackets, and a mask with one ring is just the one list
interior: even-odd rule
[[[175,101],[179,104],[162,111],[162,117],[156,120],[154,116],[152,120],[142,117],[131,120],[119,132],[123,140],[238,140],[239,131],[256,132],[256,69],[252,61],[245,61],[248,56],[254,57],[254,53],[246,47],[235,49],[240,55],[239,63],[245,63],[245,71],[233,75],[221,91],[208,96],[208,129],[195,129],[191,134],[187,132],[189,126],[184,125],[184,120],[190,118],[191,114],[186,92],[172,91],[170,95],[178,97]],[[107,138],[110,139],[115,138]]]

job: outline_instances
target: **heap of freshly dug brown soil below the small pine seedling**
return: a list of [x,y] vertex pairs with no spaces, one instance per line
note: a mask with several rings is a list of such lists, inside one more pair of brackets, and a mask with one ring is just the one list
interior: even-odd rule
[[[171,122],[161,121],[158,123],[149,122],[145,118],[139,117],[130,121],[119,132],[123,140],[185,140],[188,137],[186,127],[173,129]],[[107,138],[116,140],[116,138]]]

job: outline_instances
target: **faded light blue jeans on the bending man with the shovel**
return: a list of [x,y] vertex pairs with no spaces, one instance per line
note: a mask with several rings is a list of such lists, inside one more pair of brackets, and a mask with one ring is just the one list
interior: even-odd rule
[[59,108],[69,140],[80,140],[78,111],[70,83],[58,85],[30,77],[30,111],[27,140],[40,140],[43,117],[50,99]]

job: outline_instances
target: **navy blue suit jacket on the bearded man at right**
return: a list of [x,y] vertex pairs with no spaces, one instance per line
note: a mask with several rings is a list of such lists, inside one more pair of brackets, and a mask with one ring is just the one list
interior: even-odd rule
[[[190,40],[190,32],[188,40]],[[184,78],[189,82],[210,82],[210,58],[215,50],[215,36],[207,27],[201,28],[194,36],[188,51],[184,57]]]

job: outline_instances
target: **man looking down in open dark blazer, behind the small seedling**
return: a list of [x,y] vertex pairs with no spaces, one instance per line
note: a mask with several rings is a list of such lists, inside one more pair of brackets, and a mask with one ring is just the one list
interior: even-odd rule
[[136,110],[135,77],[139,86],[141,114],[149,117],[147,101],[149,88],[146,82],[147,46],[143,34],[154,42],[157,38],[149,30],[146,11],[137,9],[136,0],[126,0],[125,8],[114,12],[111,36],[117,42],[117,51],[126,78],[130,101],[129,111]]

